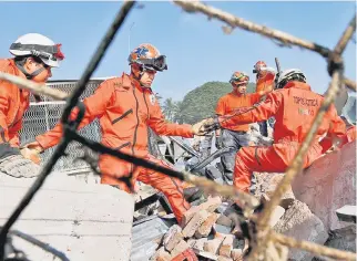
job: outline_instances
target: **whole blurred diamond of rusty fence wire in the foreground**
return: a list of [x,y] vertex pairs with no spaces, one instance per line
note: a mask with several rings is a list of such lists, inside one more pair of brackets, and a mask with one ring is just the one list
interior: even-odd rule
[[[313,43],[308,42],[306,40],[298,39],[296,36],[293,36],[290,34],[273,30],[263,25],[258,25],[253,22],[245,21],[241,18],[234,17],[231,13],[221,11],[218,9],[208,7],[206,4],[203,4],[198,1],[173,1],[175,4],[180,6],[187,12],[202,12],[208,18],[216,18],[225,23],[227,23],[232,29],[238,27],[247,31],[252,31],[255,33],[259,33],[262,35],[265,35],[269,39],[274,39],[275,41],[282,42],[282,46],[284,45],[298,45],[304,49],[308,49],[310,51],[319,53],[323,58],[327,59],[328,62],[328,72],[332,76],[332,83],[328,87],[327,94],[325,95],[324,103],[322,104],[318,114],[315,117],[315,121],[304,140],[302,144],[295,159],[293,160],[292,165],[287,168],[285,176],[283,180],[280,181],[279,186],[277,186],[277,189],[275,190],[271,201],[266,203],[266,206],[263,208],[263,212],[259,213],[257,217],[256,213],[251,215],[256,208],[261,206],[259,201],[245,192],[241,192],[236,190],[233,186],[228,185],[218,185],[212,180],[208,180],[203,177],[197,177],[195,175],[192,175],[190,173],[184,171],[176,171],[174,169],[170,169],[166,167],[162,167],[159,165],[155,165],[151,161],[147,161],[145,159],[135,157],[133,155],[124,154],[119,150],[113,150],[100,143],[86,139],[79,135],[76,133],[76,129],[79,127],[79,124],[84,115],[84,105],[79,102],[80,95],[85,90],[85,85],[88,81],[90,80],[91,75],[93,74],[94,70],[99,65],[100,61],[102,60],[105,51],[108,50],[109,45],[111,44],[113,38],[115,36],[115,33],[121,28],[123,22],[125,21],[125,18],[128,17],[129,12],[133,9],[135,1],[124,1],[122,4],[120,11],[118,12],[113,23],[110,25],[108,32],[105,33],[104,38],[100,42],[99,48],[96,49],[94,55],[92,56],[89,65],[86,66],[83,75],[81,76],[80,81],[78,82],[78,85],[73,90],[73,92],[68,95],[67,93],[60,92],[58,90],[49,88],[45,85],[35,84],[27,80],[21,80],[19,77],[16,77],[13,75],[9,75],[6,73],[0,73],[0,79],[4,81],[12,82],[17,84],[20,88],[28,88],[31,92],[35,94],[43,94],[45,96],[49,96],[53,100],[60,100],[60,101],[67,101],[67,105],[64,108],[64,112],[62,113],[61,122],[63,124],[63,136],[58,145],[57,149],[53,152],[51,158],[48,160],[48,163],[44,165],[41,174],[37,177],[33,185],[30,187],[30,189],[27,191],[20,203],[17,206],[14,211],[11,213],[10,218],[7,220],[4,226],[1,228],[0,231],[0,260],[3,260],[4,254],[4,244],[7,241],[7,236],[9,234],[10,228],[13,226],[13,223],[18,220],[22,211],[28,207],[28,205],[31,202],[32,198],[37,194],[37,191],[42,187],[45,178],[51,174],[51,170],[57,163],[57,160],[64,155],[67,146],[71,142],[79,142],[83,146],[98,152],[102,154],[112,155],[114,157],[118,157],[120,159],[133,163],[135,166],[142,166],[145,168],[150,168],[152,170],[162,173],[164,175],[178,178],[181,180],[188,181],[193,185],[196,185],[204,189],[206,194],[218,194],[222,196],[228,196],[234,199],[238,199],[241,202],[244,203],[244,210],[247,216],[252,218],[252,220],[256,221],[257,225],[257,231],[256,231],[256,244],[253,246],[252,252],[249,253],[248,258],[252,260],[259,260],[263,250],[266,248],[267,242],[274,241],[280,244],[285,244],[290,248],[299,248],[309,252],[313,252],[315,254],[319,255],[326,255],[332,257],[336,259],[345,259],[345,260],[355,260],[356,254],[347,251],[340,251],[336,249],[330,249],[324,246],[315,244],[307,241],[297,241],[293,238],[278,234],[272,231],[272,229],[267,226],[267,220],[269,220],[272,211],[275,206],[278,205],[280,200],[280,196],[286,191],[287,185],[290,184],[293,178],[302,170],[302,163],[303,163],[303,155],[308,149],[314,136],[315,132],[318,128],[320,122],[323,121],[325,112],[328,109],[329,105],[334,102],[336,95],[338,94],[339,90],[343,87],[343,83],[349,87],[353,91],[356,91],[356,82],[345,79],[344,73],[344,63],[341,60],[341,53],[344,52],[348,41],[353,36],[353,33],[356,30],[356,15],[348,24],[347,29],[345,30],[343,36],[338,41],[338,44],[334,49],[334,51]],[[75,119],[69,119],[69,115],[71,111],[78,107],[79,114]],[[122,181],[128,182],[128,179],[130,177],[119,178]],[[130,181],[130,180],[129,180]]]

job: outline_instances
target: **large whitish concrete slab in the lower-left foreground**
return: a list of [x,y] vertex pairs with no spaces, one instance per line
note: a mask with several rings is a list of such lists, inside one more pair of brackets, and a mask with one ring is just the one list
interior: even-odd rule
[[[0,174],[0,226],[33,181]],[[132,195],[53,173],[12,229],[49,243],[69,260],[122,261],[130,259],[133,212]],[[13,244],[30,260],[59,260],[17,237]]]

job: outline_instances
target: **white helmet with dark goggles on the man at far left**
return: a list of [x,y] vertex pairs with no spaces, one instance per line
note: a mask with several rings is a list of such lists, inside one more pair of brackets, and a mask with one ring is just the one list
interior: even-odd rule
[[38,56],[44,64],[59,67],[59,62],[64,59],[60,50],[61,45],[42,34],[28,33],[14,41],[9,51],[14,56]]

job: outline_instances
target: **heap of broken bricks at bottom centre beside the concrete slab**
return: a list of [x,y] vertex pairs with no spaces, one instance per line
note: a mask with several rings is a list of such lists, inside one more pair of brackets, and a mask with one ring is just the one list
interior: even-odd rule
[[247,242],[239,237],[233,220],[225,216],[226,203],[208,197],[193,206],[182,226],[174,225],[163,236],[151,260],[243,260]]

